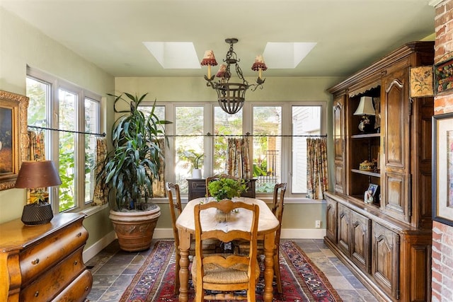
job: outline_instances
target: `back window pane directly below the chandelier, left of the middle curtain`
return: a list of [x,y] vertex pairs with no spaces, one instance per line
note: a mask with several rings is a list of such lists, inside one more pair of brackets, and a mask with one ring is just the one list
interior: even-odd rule
[[[242,110],[230,115],[222,108],[214,107],[214,134],[241,135]],[[228,137],[214,137],[214,175],[226,172],[226,147]]]

